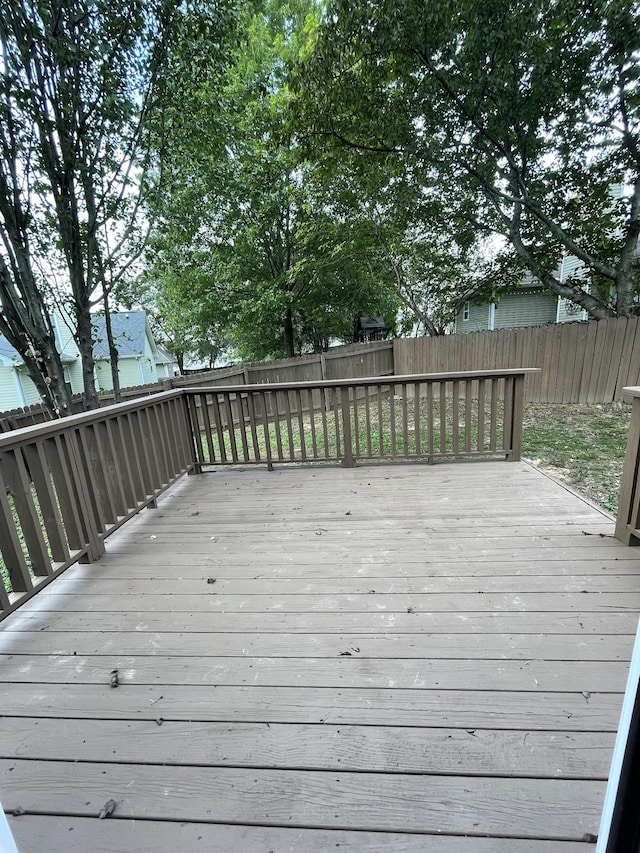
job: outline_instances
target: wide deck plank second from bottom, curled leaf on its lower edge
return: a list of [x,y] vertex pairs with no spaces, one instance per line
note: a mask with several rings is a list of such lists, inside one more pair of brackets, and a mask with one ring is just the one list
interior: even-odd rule
[[[43,785],[42,780],[47,784]],[[0,761],[11,811],[95,817],[108,799],[120,817],[368,831],[580,840],[597,833],[604,783]],[[26,808],[25,808],[26,804]],[[544,814],[544,821],[540,815]]]

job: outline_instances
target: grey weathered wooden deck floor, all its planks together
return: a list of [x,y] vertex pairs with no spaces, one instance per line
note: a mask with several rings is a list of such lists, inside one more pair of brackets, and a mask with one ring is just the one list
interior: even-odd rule
[[594,850],[613,527],[525,463],[184,478],[0,626],[19,850]]

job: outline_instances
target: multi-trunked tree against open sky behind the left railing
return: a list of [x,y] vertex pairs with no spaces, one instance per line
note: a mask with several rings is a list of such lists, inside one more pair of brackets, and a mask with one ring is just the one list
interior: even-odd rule
[[142,201],[157,178],[148,117],[176,14],[168,0],[0,0],[0,329],[32,378],[37,345],[62,399],[43,296],[61,278],[89,408],[99,405],[90,312],[101,301],[108,312],[145,242]]

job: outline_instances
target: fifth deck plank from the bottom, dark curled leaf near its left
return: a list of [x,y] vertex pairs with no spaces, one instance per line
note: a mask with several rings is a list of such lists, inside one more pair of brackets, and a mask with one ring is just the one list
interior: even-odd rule
[[131,655],[2,655],[0,681],[33,684],[227,684],[622,693],[628,664],[608,661],[377,660]]

